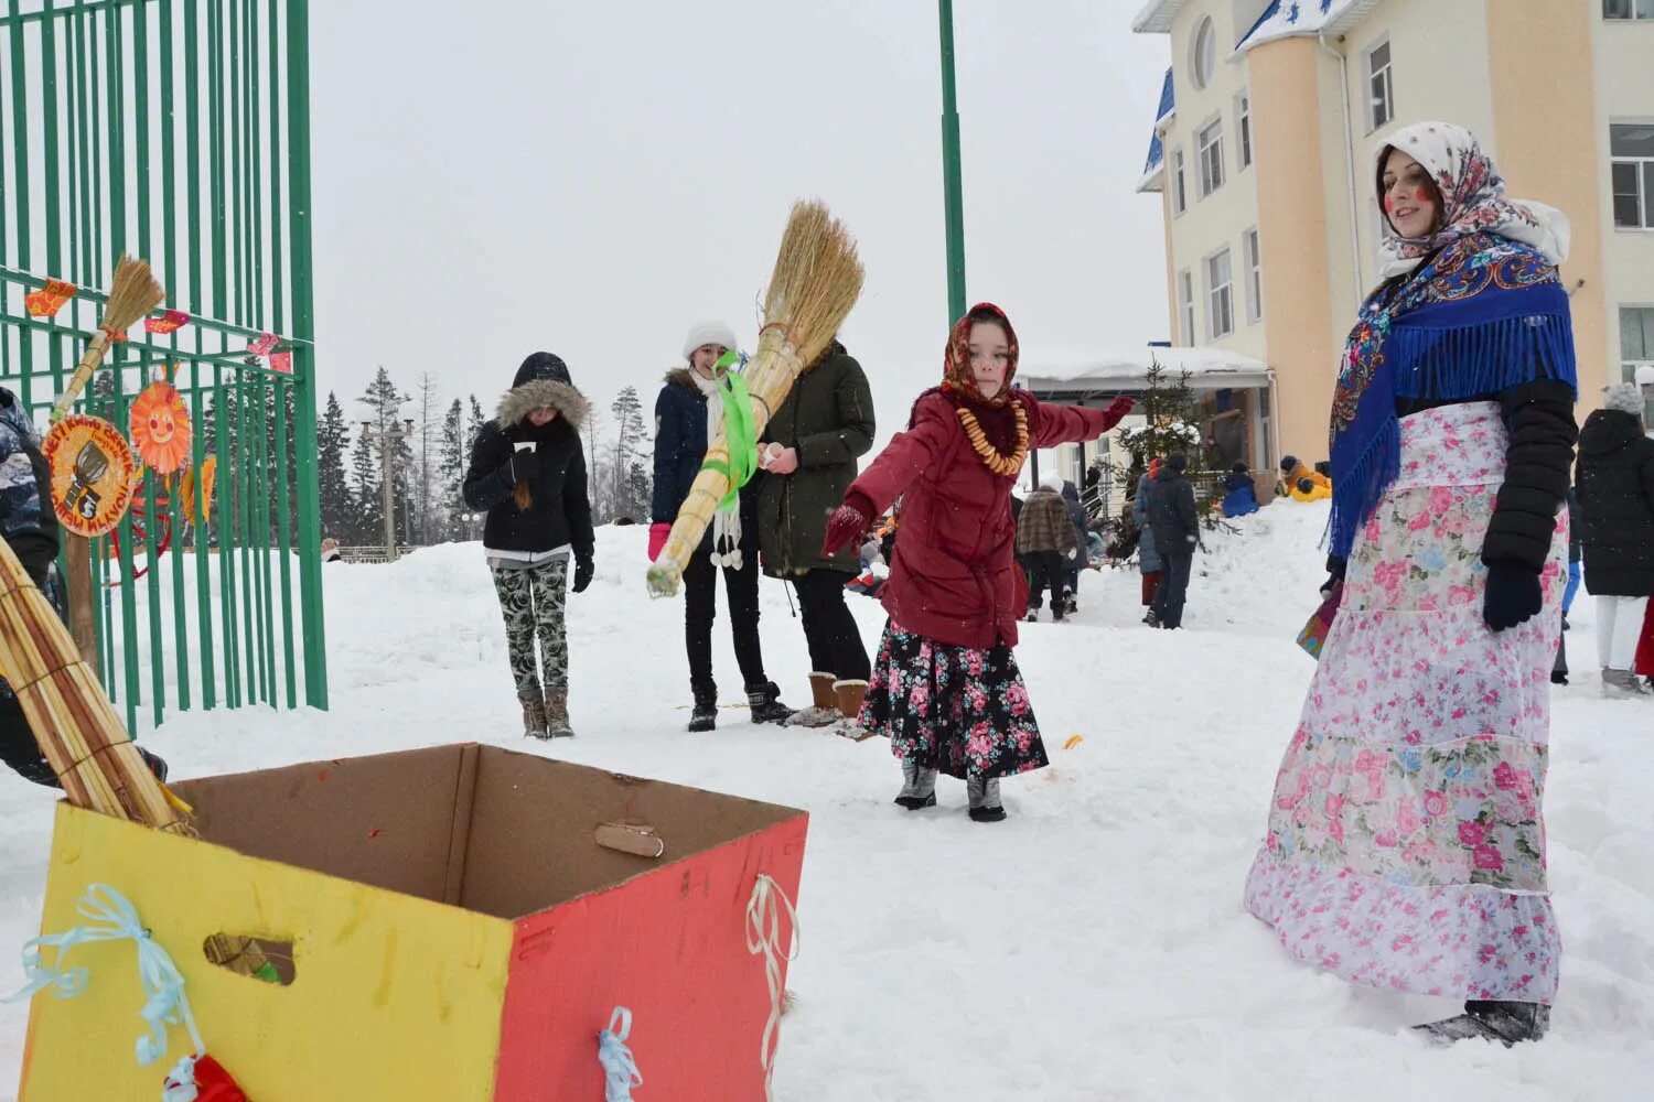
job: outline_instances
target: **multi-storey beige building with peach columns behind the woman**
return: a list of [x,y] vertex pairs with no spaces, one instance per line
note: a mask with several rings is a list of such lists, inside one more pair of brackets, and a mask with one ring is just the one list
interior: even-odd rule
[[1581,418],[1654,362],[1654,0],[1151,0],[1171,68],[1140,183],[1166,225],[1178,345],[1262,360],[1254,468],[1327,458],[1378,283],[1373,150],[1474,131],[1508,190],[1565,210]]

